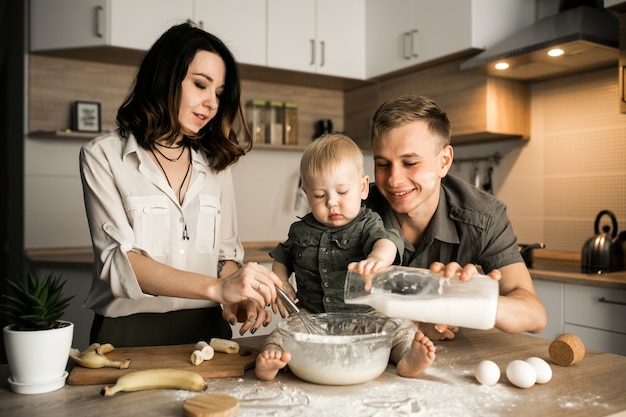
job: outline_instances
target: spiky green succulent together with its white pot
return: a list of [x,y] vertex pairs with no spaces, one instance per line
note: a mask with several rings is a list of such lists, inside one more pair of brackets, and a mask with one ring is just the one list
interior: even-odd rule
[[38,394],[65,385],[74,324],[61,320],[73,296],[65,297],[66,281],[50,273],[8,281],[2,311],[9,318],[3,330],[14,392]]

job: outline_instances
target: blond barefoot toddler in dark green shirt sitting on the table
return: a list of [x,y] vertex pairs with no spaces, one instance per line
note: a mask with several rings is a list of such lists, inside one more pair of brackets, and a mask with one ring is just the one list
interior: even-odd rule
[[[380,216],[362,206],[369,177],[361,150],[345,135],[326,134],[305,149],[300,176],[311,212],[293,223],[288,239],[270,252],[272,270],[292,296],[288,279],[295,274],[299,307],[307,313],[381,315],[369,306],[346,304],[343,295],[348,269],[376,272],[399,263],[404,248],[399,234],[385,229]],[[434,361],[435,347],[412,321],[394,321],[399,327],[390,359],[399,375],[415,377]],[[291,359],[281,344],[280,333],[274,331],[261,346],[258,379],[273,380]]]

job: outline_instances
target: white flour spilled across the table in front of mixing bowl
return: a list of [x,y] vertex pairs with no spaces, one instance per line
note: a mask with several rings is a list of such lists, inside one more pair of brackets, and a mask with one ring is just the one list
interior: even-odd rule
[[[204,393],[224,393],[239,400],[238,417],[396,417],[396,416],[502,416],[525,415],[528,390],[512,387],[502,375],[494,386],[480,385],[474,377],[476,358],[450,357],[437,347],[437,359],[419,378],[402,378],[390,367],[380,377],[353,386],[324,386],[281,372],[272,382],[242,378],[207,380]],[[533,388],[531,388],[533,389]],[[600,395],[563,394],[550,397],[534,387],[537,404],[555,404],[562,410],[611,411]],[[526,395],[525,395],[526,394]],[[188,397],[198,393],[188,393]],[[200,394],[201,395],[201,394]]]

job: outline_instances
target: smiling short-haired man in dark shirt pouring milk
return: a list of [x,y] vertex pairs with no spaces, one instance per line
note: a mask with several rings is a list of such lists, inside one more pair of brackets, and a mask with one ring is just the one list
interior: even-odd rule
[[[402,263],[429,267],[461,280],[478,267],[499,280],[496,327],[538,333],[546,312],[535,293],[505,205],[448,175],[454,151],[450,121],[423,96],[382,104],[372,119],[375,187],[366,204],[405,240]],[[422,323],[431,340],[452,339],[458,328]]]

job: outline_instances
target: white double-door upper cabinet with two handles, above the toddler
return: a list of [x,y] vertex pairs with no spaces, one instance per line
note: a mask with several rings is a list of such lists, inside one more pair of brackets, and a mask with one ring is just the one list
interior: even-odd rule
[[365,76],[363,0],[267,0],[267,64],[346,78]]

